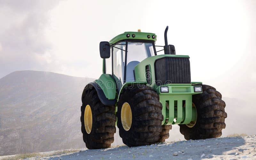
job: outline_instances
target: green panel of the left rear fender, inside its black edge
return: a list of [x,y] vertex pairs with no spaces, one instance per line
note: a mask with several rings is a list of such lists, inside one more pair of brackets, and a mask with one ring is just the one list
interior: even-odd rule
[[116,99],[116,83],[112,76],[109,74],[102,74],[99,79],[95,80],[95,82],[100,86],[109,100]]

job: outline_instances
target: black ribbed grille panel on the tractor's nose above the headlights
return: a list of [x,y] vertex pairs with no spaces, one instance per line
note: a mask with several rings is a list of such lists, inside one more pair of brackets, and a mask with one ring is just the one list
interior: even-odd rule
[[155,61],[156,84],[191,83],[189,58],[164,57]]

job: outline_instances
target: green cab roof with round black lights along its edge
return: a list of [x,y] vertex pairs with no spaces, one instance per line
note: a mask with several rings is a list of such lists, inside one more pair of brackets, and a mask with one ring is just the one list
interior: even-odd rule
[[[130,35],[129,37],[127,37],[127,35]],[[132,35],[135,35],[135,37],[132,37]],[[148,35],[150,36],[150,38],[148,38]],[[155,36],[155,38],[152,38],[152,36]],[[154,33],[147,33],[147,32],[124,32],[123,34],[120,34],[118,36],[115,36],[114,38],[112,38],[109,43],[110,44],[115,44],[121,40],[125,40],[125,39],[131,39],[131,40],[153,40],[156,42],[156,35]]]

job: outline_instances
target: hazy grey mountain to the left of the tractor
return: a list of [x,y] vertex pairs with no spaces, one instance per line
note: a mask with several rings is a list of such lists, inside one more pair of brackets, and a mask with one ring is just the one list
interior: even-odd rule
[[92,78],[16,71],[0,79],[0,155],[84,148],[80,106]]

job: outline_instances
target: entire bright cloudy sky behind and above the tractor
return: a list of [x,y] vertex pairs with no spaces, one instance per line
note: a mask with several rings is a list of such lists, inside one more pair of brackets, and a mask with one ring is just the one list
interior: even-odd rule
[[[0,78],[17,70],[98,78],[100,41],[151,32],[189,55],[191,80],[224,97],[256,95],[256,1],[0,0]],[[158,52],[163,54],[163,52]]]

